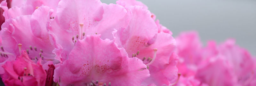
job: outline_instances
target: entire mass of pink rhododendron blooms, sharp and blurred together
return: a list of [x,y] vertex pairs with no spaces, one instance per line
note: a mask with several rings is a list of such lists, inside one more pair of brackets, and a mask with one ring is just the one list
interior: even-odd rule
[[234,40],[202,47],[136,0],[0,0],[6,86],[253,86],[255,58]]

